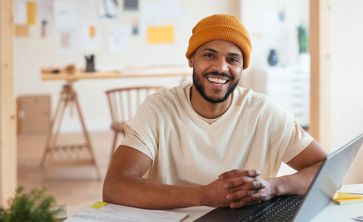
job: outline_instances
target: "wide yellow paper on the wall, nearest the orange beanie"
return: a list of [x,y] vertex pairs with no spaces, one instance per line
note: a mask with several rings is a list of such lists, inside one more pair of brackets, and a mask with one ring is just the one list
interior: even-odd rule
[[174,43],[173,26],[150,26],[147,33],[148,43]]

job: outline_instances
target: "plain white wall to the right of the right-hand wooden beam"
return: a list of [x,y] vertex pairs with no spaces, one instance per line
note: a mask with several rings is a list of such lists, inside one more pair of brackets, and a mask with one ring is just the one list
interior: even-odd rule
[[[332,151],[363,133],[363,1],[331,1]],[[363,148],[344,183],[363,183]]]

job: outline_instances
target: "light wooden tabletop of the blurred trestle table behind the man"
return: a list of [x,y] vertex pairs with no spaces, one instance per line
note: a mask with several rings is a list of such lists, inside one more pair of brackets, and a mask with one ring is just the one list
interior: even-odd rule
[[[59,73],[52,73],[52,70],[59,70]],[[42,80],[67,80],[76,81],[79,79],[93,78],[130,78],[130,77],[173,77],[192,76],[193,70],[188,67],[144,67],[144,68],[123,68],[119,71],[98,71],[84,72],[77,69],[74,73],[67,73],[64,68],[42,69]]]

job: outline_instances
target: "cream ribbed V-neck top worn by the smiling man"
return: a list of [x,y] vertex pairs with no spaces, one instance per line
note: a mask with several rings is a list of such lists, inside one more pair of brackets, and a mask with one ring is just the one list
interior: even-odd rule
[[[191,82],[184,82],[148,97],[127,122],[121,145],[151,158],[150,179],[174,185],[208,184],[232,169],[258,169],[263,177],[274,177],[281,161],[290,161],[313,140],[292,114],[266,96],[239,86],[223,115],[205,119],[190,104],[191,86]],[[219,129],[222,142],[213,135]],[[200,150],[199,146],[205,147]]]

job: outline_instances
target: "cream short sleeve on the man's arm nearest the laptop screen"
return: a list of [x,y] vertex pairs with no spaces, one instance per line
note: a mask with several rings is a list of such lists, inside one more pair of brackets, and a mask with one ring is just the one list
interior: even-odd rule
[[287,145],[284,157],[282,162],[287,163],[296,157],[302,150],[304,150],[310,143],[313,141],[313,137],[311,137],[308,133],[305,132],[301,126],[294,121],[293,132],[291,134],[291,138],[289,141],[289,145]]

